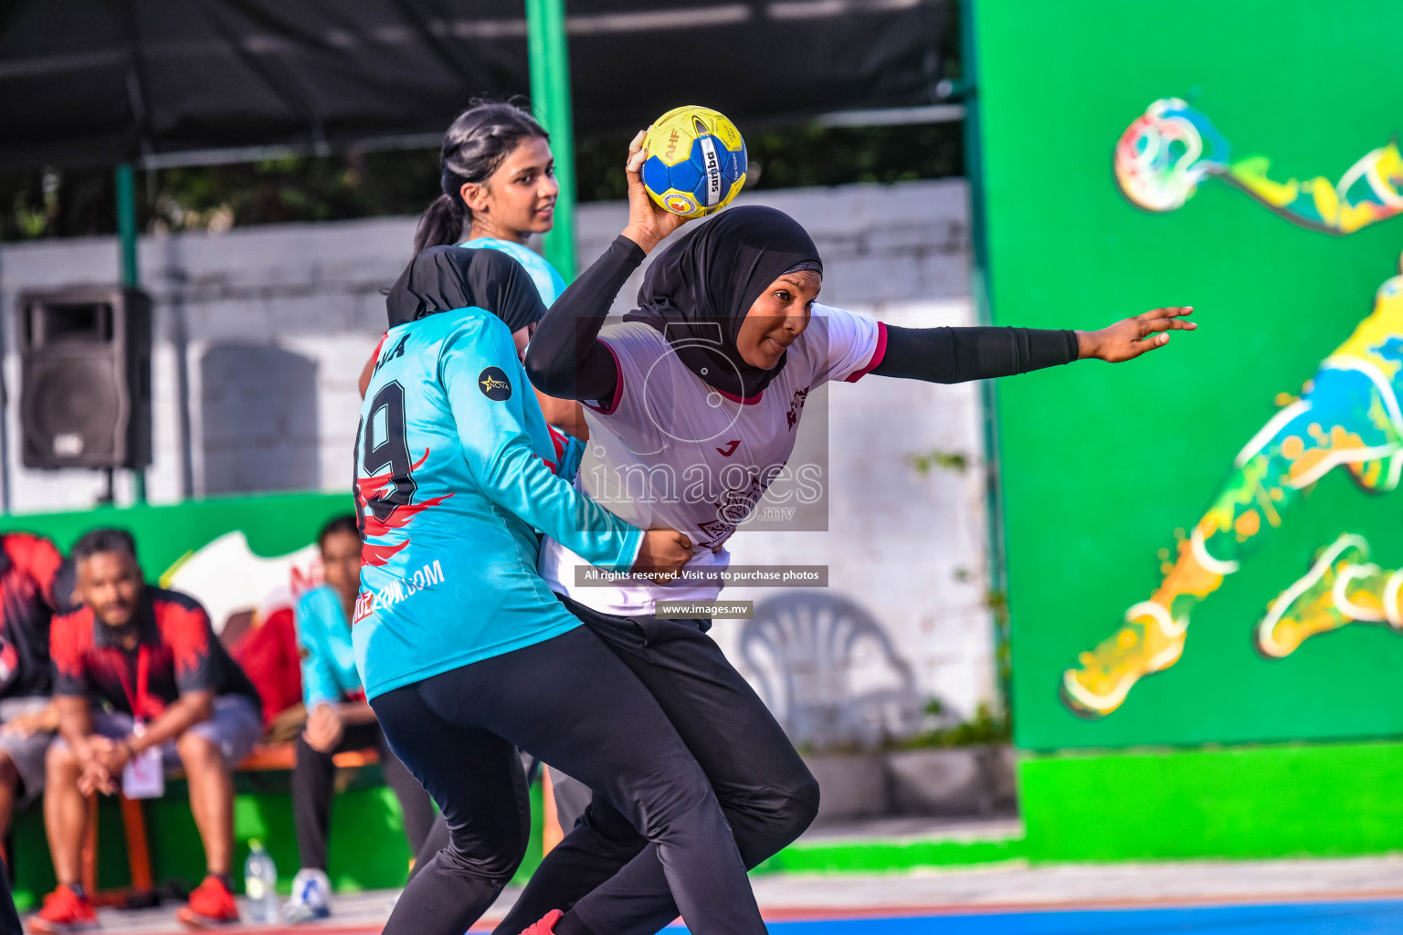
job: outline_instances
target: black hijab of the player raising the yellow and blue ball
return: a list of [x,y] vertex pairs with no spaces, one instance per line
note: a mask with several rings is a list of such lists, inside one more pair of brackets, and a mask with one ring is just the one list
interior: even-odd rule
[[638,308],[624,321],[661,331],[709,385],[752,398],[779,376],[788,355],[773,370],[760,370],[741,357],[735,338],[765,287],[797,269],[824,272],[798,221],[773,207],[731,207],[662,251],[643,278]]

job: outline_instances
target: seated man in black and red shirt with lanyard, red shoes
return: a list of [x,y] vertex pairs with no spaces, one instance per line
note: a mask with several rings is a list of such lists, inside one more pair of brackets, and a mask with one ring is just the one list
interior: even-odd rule
[[262,729],[258,692],[194,599],[142,580],[130,534],[94,530],[73,547],[73,562],[83,607],[53,621],[51,642],[59,740],[49,747],[43,819],[59,887],[31,928],[95,922],[79,882],[84,796],[116,792],[123,768],[150,750],[166,768],[185,770],[209,871],[175,915],[194,925],[236,921],[230,771]]

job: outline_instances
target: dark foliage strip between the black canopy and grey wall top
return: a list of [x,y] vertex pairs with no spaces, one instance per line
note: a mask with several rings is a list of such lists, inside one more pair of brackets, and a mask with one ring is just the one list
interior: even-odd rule
[[[753,189],[898,182],[964,171],[961,125],[794,128],[752,135]],[[626,196],[629,137],[577,146],[579,200]],[[438,150],[283,157],[137,172],[147,233],[418,214],[439,195]],[[0,172],[0,241],[116,233],[109,168]]]

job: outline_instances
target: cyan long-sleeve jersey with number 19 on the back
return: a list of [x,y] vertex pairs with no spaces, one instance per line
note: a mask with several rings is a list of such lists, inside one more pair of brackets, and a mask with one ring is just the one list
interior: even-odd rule
[[556,477],[560,457],[497,315],[390,328],[355,446],[368,698],[579,625],[536,573],[539,533],[633,565],[643,533]]

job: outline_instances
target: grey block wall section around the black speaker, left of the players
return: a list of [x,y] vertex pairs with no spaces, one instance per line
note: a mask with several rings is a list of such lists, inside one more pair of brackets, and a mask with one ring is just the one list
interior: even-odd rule
[[[142,238],[142,286],[154,300],[153,502],[347,484],[359,411],[355,377],[384,328],[380,289],[408,261],[414,223],[394,217]],[[18,395],[18,294],[115,279],[111,238],[0,248],[11,398]],[[25,470],[14,407],[4,428],[8,509],[94,502],[95,472]],[[337,446],[347,453],[335,456]],[[122,499],[129,478],[119,481]]]

